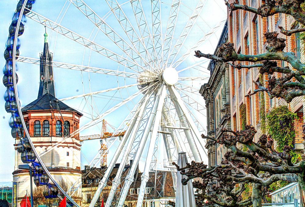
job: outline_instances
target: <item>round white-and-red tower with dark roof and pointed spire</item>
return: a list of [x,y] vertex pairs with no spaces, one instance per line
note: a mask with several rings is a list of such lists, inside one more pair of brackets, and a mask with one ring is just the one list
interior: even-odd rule
[[[81,202],[81,143],[79,135],[70,133],[79,128],[81,116],[77,110],[59,101],[55,96],[52,54],[48,47],[48,34],[45,33],[43,53],[40,55],[40,84],[38,98],[22,108],[22,115],[33,141],[35,150],[42,161],[60,183],[62,180],[76,192]],[[67,137],[67,138],[65,138]],[[30,192],[30,176],[28,170],[18,169],[26,158],[21,157],[15,144],[15,171],[13,181],[18,182],[18,202]],[[33,181],[34,183],[34,181]],[[38,184],[39,185],[39,184]],[[36,187],[33,185],[33,187]]]

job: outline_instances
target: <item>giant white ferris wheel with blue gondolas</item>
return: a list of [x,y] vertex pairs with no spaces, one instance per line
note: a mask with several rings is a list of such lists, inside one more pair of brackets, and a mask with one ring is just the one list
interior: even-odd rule
[[[124,136],[107,139],[111,151],[107,170],[90,206],[95,206],[108,185],[117,162],[121,165],[109,186],[106,206],[113,205],[115,198],[116,206],[124,206],[139,165],[143,173],[137,206],[142,206],[149,172],[168,171],[175,185],[177,172],[171,163],[177,162],[179,152],[186,152],[189,162],[207,162],[201,139],[206,131],[206,112],[199,86],[206,83],[210,72],[206,70],[208,60],[194,59],[193,51],[211,48],[211,40],[217,39],[215,34],[225,23],[226,11],[220,9],[222,15],[214,15],[211,21],[206,18],[213,11],[207,9],[220,7],[217,1],[106,0],[98,6],[95,1],[58,2],[20,0],[9,28],[3,79],[7,87],[5,107],[12,113],[10,125],[17,134],[14,138],[20,140],[20,152],[26,154],[23,160],[32,163],[40,184],[53,192],[61,191],[78,206],[57,184],[41,157],[68,138],[98,134],[106,118],[115,126],[109,129],[111,133],[124,131]],[[48,31],[45,37],[49,37],[49,49],[53,48],[56,97],[83,115],[78,128],[63,133],[58,143],[40,152],[21,116],[20,99],[25,95],[19,95],[18,89],[26,90],[22,90],[22,83],[17,89],[16,61],[24,75],[20,80],[35,76],[22,72],[24,67],[30,64],[34,71],[40,64],[33,54],[41,51],[41,45],[28,43],[36,38],[31,37],[30,30]],[[21,43],[30,49],[19,53]],[[90,143],[83,145],[91,147]],[[98,150],[87,150],[93,151],[92,155],[82,151],[82,167],[100,163]],[[122,185],[124,166],[130,160],[133,162]]]

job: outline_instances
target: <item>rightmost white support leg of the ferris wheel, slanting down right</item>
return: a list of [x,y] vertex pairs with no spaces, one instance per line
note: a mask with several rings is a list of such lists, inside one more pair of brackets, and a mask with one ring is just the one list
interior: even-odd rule
[[176,91],[176,89],[175,89],[173,86],[170,87],[170,91],[171,91],[171,92],[174,94],[174,96],[176,97],[175,99],[177,100],[177,103],[178,103],[178,105],[180,106],[180,108],[181,108],[181,110],[182,110],[182,112],[183,112],[183,115],[185,116],[186,120],[188,121],[188,124],[190,125],[191,129],[192,129],[193,132],[195,133],[195,137],[196,137],[197,141],[199,142],[199,144],[201,145],[201,147],[202,147],[202,149],[203,149],[203,152],[205,153],[206,158],[207,158],[208,155],[207,155],[207,153],[206,153],[206,150],[205,150],[205,148],[203,147],[203,145],[202,145],[202,143],[201,143],[201,141],[200,141],[201,135],[200,135],[200,133],[199,133],[199,130],[198,130],[198,128],[196,127],[196,125],[195,125],[195,123],[194,123],[192,117],[189,115],[188,110],[187,110],[186,106],[184,105],[184,103],[183,103],[183,101],[182,101],[182,99],[181,99],[179,93]]

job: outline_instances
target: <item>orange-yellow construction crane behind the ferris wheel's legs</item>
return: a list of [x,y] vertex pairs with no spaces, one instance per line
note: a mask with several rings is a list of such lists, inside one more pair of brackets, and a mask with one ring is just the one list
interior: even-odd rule
[[[100,154],[101,154],[101,166],[107,166],[107,154],[108,154],[108,146],[107,146],[107,139],[109,141],[113,141],[114,137],[119,137],[120,140],[122,140],[126,130],[117,132],[115,134],[111,132],[107,132],[107,127],[106,127],[106,120],[103,119],[103,125],[102,125],[102,132],[101,134],[93,134],[93,135],[88,135],[88,136],[81,136],[79,137],[79,140],[86,141],[86,140],[94,140],[94,139],[100,139]],[[109,127],[111,127],[113,130],[116,130],[113,126],[108,124]]]

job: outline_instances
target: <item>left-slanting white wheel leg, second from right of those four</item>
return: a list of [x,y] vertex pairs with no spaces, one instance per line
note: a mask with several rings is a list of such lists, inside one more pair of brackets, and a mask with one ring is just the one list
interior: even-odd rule
[[[162,88],[162,86],[161,86],[161,88]],[[118,205],[117,205],[118,207],[123,207],[124,201],[126,199],[128,191],[129,191],[129,187],[130,187],[131,183],[134,181],[133,177],[135,175],[135,171],[137,169],[137,166],[139,164],[142,152],[144,150],[145,143],[147,141],[149,132],[150,132],[151,127],[152,127],[152,123],[155,120],[156,110],[157,110],[157,106],[159,105],[159,101],[164,102],[164,100],[160,100],[160,93],[161,93],[161,90],[159,89],[158,94],[157,94],[156,99],[155,99],[155,103],[152,107],[152,111],[149,114],[149,118],[148,118],[145,130],[143,132],[141,141],[139,143],[137,153],[135,154],[134,161],[132,162],[129,173],[128,173],[126,179],[125,179],[124,187],[123,187],[123,190],[121,191],[120,200],[119,200]]]

